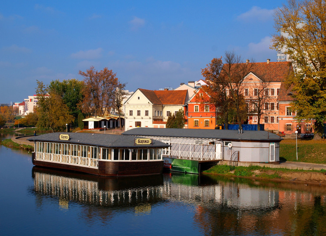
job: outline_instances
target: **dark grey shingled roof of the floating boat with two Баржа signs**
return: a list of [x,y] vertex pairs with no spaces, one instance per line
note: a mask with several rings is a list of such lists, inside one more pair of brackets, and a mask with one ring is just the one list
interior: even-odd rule
[[[60,140],[60,134],[68,134],[69,140]],[[141,137],[139,137],[141,138]],[[28,139],[29,141],[43,141],[43,142],[60,142],[60,143],[73,143],[91,146],[100,146],[108,148],[162,148],[169,147],[170,145],[153,140],[153,144],[135,145],[135,137],[122,136],[115,134],[92,134],[92,133],[49,133],[38,136],[33,136]]]

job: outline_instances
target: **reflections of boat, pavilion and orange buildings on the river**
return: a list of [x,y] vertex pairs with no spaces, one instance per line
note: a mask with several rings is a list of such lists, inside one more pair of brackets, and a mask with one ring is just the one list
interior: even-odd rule
[[183,173],[107,178],[38,167],[32,176],[34,193],[57,198],[62,209],[75,203],[92,206],[81,216],[87,221],[111,221],[123,211],[152,214],[154,206],[185,206],[193,212],[192,222],[174,219],[170,208],[162,217],[204,235],[326,235],[325,189],[319,185]]

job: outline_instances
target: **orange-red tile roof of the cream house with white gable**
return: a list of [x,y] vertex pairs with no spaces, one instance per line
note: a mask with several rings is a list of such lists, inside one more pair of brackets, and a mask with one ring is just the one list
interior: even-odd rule
[[183,105],[186,102],[187,90],[139,90],[153,104]]

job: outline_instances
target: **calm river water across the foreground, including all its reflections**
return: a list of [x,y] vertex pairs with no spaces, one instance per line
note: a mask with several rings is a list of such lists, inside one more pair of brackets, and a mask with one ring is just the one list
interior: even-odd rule
[[2,145],[0,159],[0,235],[326,235],[322,186],[100,178],[33,167],[31,153]]

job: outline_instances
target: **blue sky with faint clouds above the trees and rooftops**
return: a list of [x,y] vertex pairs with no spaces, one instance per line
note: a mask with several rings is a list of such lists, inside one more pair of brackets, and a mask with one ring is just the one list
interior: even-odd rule
[[0,103],[35,94],[36,80],[112,69],[126,89],[202,79],[225,51],[276,61],[273,9],[284,1],[4,1]]

